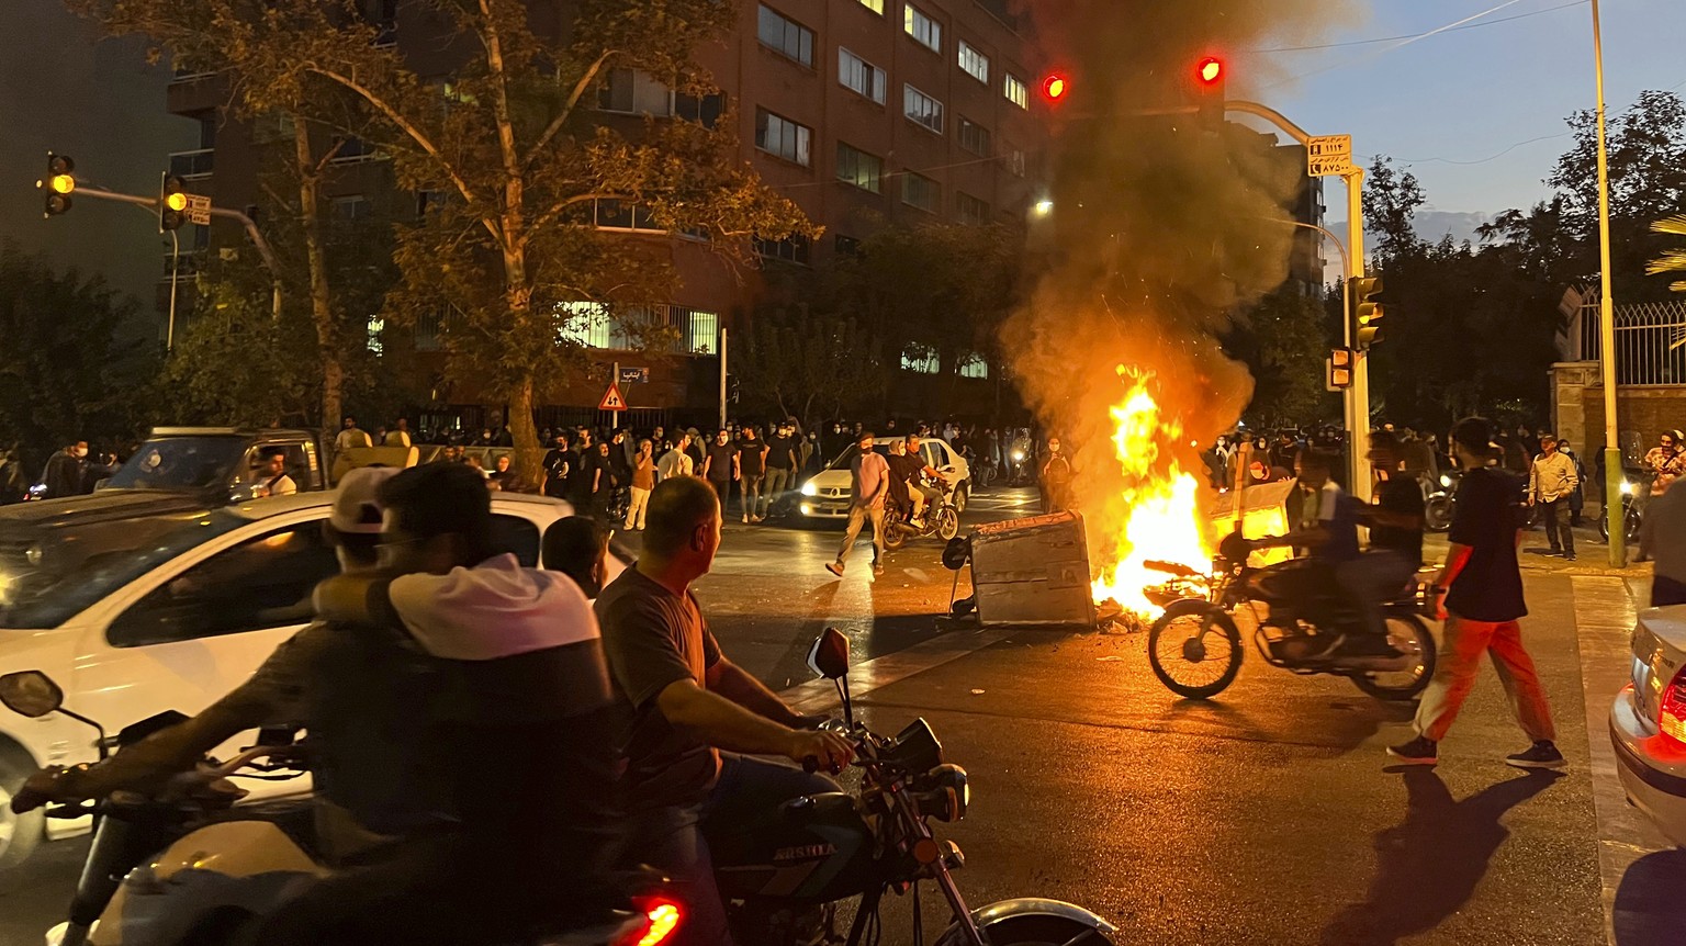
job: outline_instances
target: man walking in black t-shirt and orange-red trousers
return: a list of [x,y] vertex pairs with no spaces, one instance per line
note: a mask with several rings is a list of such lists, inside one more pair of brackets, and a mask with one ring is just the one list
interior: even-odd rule
[[1445,644],[1435,680],[1416,710],[1416,739],[1388,747],[1388,754],[1418,766],[1438,762],[1436,745],[1452,728],[1463,700],[1475,686],[1482,654],[1492,654],[1516,720],[1533,745],[1506,762],[1522,769],[1558,769],[1556,730],[1534,661],[1522,648],[1517,619],[1528,614],[1516,546],[1522,538],[1522,513],[1516,506],[1516,477],[1487,462],[1495,457],[1492,425],[1472,417],[1452,428],[1452,449],[1469,470],[1458,484],[1458,506],[1448,533],[1447,563],[1435,578],[1445,595]]

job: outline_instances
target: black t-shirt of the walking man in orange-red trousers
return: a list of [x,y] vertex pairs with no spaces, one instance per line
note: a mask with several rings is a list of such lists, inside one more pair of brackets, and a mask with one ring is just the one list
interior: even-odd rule
[[1516,474],[1482,467],[1463,476],[1452,513],[1453,545],[1472,548],[1447,592],[1447,610],[1470,621],[1516,621],[1528,614],[1522,572],[1516,562],[1522,482]]

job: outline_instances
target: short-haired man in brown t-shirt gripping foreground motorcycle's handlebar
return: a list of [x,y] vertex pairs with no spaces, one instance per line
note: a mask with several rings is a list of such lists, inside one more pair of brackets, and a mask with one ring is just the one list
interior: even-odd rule
[[690,589],[713,565],[720,523],[706,482],[663,481],[649,497],[644,555],[595,605],[624,720],[629,840],[678,884],[685,943],[708,946],[732,943],[708,835],[786,799],[836,791],[831,779],[749,755],[813,759],[833,772],[853,757],[836,734],[801,728],[808,720],[727,659],[708,632]]

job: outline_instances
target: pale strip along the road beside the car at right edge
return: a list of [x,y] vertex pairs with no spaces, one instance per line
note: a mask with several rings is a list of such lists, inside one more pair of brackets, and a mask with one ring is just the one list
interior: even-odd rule
[[1610,745],[1610,703],[1632,676],[1635,590],[1624,578],[1573,575],[1575,637],[1580,646],[1581,691],[1587,707],[1587,762],[1592,767],[1593,811],[1598,816],[1598,873],[1603,882],[1605,939],[1615,939],[1615,894],[1627,868],[1669,845],[1639,809],[1627,804]]

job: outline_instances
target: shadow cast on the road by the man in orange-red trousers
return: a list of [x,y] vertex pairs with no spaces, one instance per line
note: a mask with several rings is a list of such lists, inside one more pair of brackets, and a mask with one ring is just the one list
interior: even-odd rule
[[1487,873],[1487,862],[1511,831],[1506,811],[1539,794],[1556,772],[1529,772],[1457,801],[1428,767],[1403,772],[1404,821],[1376,835],[1376,879],[1369,897],[1335,914],[1324,946],[1393,946],[1440,926]]

